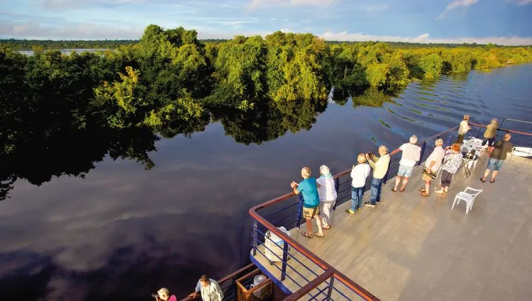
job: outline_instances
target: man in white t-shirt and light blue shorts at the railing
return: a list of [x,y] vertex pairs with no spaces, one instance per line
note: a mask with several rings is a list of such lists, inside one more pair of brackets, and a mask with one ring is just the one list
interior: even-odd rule
[[401,161],[399,161],[399,171],[397,171],[397,177],[395,178],[395,186],[392,188],[393,192],[397,192],[397,187],[399,186],[399,183],[401,183],[401,178],[403,180],[403,186],[401,186],[399,191],[403,192],[404,188],[406,187],[406,183],[409,183],[409,177],[414,170],[416,162],[419,161],[419,157],[421,156],[421,147],[416,145],[417,142],[418,137],[416,135],[412,135],[412,137],[410,137],[409,143],[401,145],[401,147],[394,149],[394,151],[389,154],[390,156],[393,156],[398,152],[403,152],[401,155]]

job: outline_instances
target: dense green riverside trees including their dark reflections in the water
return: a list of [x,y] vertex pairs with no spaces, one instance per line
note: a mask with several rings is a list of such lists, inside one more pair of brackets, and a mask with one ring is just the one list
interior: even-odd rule
[[84,176],[106,156],[150,169],[160,137],[211,120],[245,144],[308,130],[333,86],[340,103],[381,106],[413,80],[532,61],[531,47],[326,43],[282,32],[205,43],[195,30],[157,25],[121,42],[71,55],[0,47],[0,200],[18,178]]

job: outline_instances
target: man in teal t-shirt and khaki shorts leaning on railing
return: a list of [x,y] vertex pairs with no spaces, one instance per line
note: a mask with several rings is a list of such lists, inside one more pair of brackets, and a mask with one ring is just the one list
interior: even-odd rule
[[318,225],[318,232],[314,232],[317,237],[323,237],[323,231],[321,229],[321,217],[320,217],[320,198],[318,195],[318,187],[320,185],[316,183],[316,178],[311,177],[311,170],[309,167],[303,167],[301,169],[301,176],[303,181],[296,183],[290,183],[290,187],[294,190],[295,194],[302,193],[303,195],[303,217],[306,222],[306,232],[301,232],[301,235],[307,238],[312,238],[312,218],[316,217],[316,225]]

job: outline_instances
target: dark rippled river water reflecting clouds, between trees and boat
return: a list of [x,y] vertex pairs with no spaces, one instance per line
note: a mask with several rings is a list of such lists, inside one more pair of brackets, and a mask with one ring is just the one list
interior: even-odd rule
[[248,209],[287,193],[301,166],[343,171],[358,152],[433,135],[465,113],[531,120],[531,79],[532,64],[441,76],[379,108],[329,101],[310,130],[260,145],[214,122],[157,142],[149,171],[106,157],[85,178],[19,179],[0,202],[1,299],[150,300],[160,287],[184,297],[201,274],[248,263]]

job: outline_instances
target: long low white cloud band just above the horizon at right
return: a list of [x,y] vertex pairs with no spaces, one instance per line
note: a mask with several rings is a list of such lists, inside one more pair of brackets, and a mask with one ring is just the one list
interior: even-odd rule
[[348,33],[343,31],[340,33],[323,33],[318,37],[324,40],[337,41],[382,41],[382,42],[421,42],[421,43],[444,43],[444,44],[462,44],[474,43],[488,44],[494,43],[498,45],[532,45],[532,37],[464,37],[464,38],[431,38],[428,33],[423,33],[417,37],[401,37],[394,35],[365,35],[363,33]]

